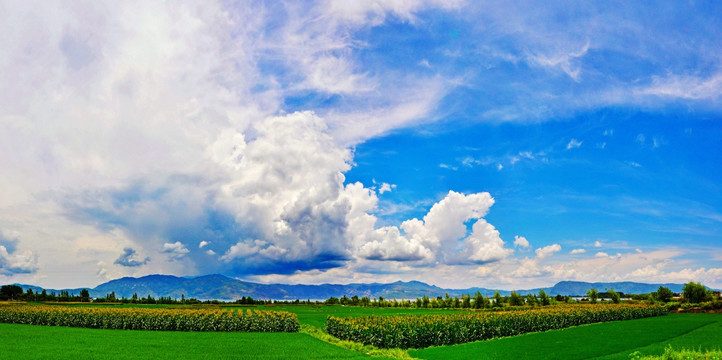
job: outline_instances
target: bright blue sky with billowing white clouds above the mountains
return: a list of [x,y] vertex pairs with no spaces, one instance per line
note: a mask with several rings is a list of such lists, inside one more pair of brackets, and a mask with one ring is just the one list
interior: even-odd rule
[[0,2],[0,283],[722,288],[722,3]]

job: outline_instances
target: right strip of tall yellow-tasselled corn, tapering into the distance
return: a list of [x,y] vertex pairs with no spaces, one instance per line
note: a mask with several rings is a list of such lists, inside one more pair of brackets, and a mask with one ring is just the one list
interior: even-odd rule
[[513,312],[328,317],[326,331],[380,348],[425,348],[667,314],[662,306],[567,305]]

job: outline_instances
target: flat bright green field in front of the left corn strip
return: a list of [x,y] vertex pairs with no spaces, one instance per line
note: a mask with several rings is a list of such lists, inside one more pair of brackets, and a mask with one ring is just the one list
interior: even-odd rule
[[0,324],[0,359],[370,359],[302,333],[99,330]]

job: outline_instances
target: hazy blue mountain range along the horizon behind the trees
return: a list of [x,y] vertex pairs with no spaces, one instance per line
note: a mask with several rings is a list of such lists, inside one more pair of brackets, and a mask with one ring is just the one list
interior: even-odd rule
[[[33,292],[42,291],[42,288],[33,285],[20,285],[24,290],[33,289]],[[645,284],[635,282],[614,282],[614,283],[588,283],[580,281],[562,281],[549,288],[537,288],[517,290],[521,295],[538,293],[544,290],[549,295],[580,295],[586,294],[587,290],[595,288],[600,292],[607,289],[614,289],[625,294],[641,294],[657,291],[660,286],[665,286],[673,292],[682,292],[682,284]],[[59,293],[60,290],[46,289],[48,292]],[[81,288],[63,289],[71,294],[79,294]],[[124,277],[100,284],[93,289],[88,289],[91,297],[104,297],[115,292],[117,297],[130,298],[134,294],[139,297],[148,295],[158,298],[170,296],[172,298],[196,298],[201,300],[235,300],[241,297],[251,296],[254,299],[276,299],[294,300],[311,299],[325,300],[335,297],[384,297],[387,299],[415,299],[417,297],[461,296],[462,294],[474,294],[476,291],[491,296],[496,291],[503,296],[511,293],[509,290],[488,289],[473,287],[468,289],[444,289],[435,285],[429,285],[420,281],[394,283],[370,283],[370,284],[322,284],[322,285],[289,285],[289,284],[258,284],[229,278],[223,275],[205,275],[198,277],[177,277],[171,275],[148,275],[139,278]]]

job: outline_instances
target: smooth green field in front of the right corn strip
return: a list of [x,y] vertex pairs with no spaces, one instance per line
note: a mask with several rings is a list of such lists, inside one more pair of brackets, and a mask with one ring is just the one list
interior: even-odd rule
[[718,348],[722,315],[670,314],[532,333],[469,344],[412,350],[421,359],[629,359],[629,354],[658,355],[675,347]]

